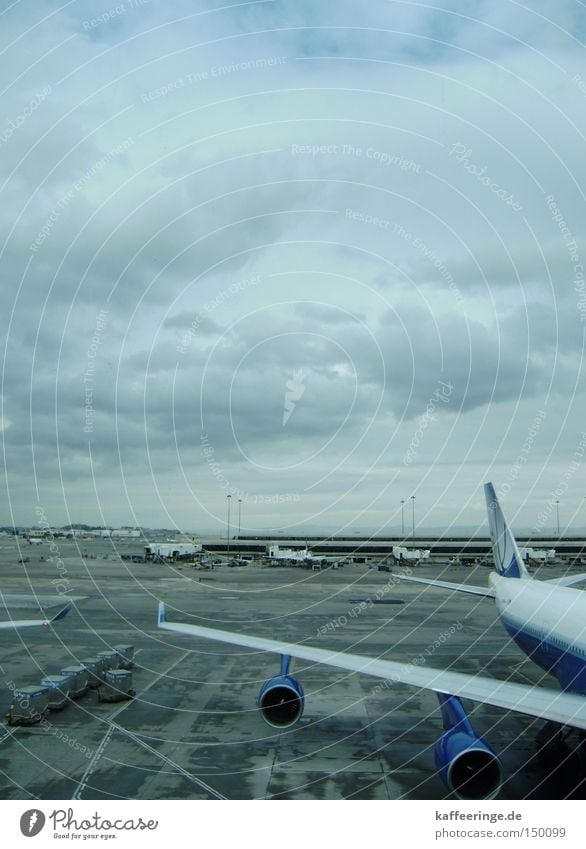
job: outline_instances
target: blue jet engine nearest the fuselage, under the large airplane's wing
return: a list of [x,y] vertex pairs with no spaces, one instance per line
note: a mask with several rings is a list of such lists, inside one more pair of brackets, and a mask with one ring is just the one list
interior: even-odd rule
[[435,746],[442,781],[458,799],[494,799],[503,783],[498,757],[472,728],[460,699],[436,695],[445,729]]

